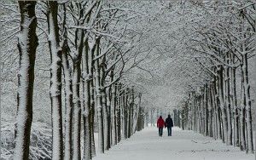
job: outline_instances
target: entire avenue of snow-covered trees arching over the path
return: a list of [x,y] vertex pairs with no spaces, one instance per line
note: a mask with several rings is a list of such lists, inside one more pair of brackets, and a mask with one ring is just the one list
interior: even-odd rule
[[[10,1],[0,7],[0,92],[2,82],[17,86],[15,143],[3,143],[12,158],[90,160],[95,133],[104,153],[154,125],[172,110],[172,100],[176,126],[254,152],[255,1]],[[171,86],[172,100],[158,97],[164,89],[153,86]],[[50,127],[34,122],[36,100],[44,100],[38,92],[49,95]],[[1,134],[11,130],[5,128]]]

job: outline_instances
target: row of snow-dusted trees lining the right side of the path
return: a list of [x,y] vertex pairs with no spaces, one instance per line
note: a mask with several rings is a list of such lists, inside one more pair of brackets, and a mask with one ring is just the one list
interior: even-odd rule
[[206,76],[181,104],[181,126],[253,152],[248,60],[255,55],[256,4],[222,5],[221,18],[201,26],[190,46]]

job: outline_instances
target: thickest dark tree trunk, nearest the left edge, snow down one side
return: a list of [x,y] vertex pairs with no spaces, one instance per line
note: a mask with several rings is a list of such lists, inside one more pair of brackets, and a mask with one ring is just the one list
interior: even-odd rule
[[15,159],[17,160],[26,160],[29,157],[34,66],[38,47],[36,3],[19,1],[20,36],[18,37],[18,49],[20,53],[20,69],[17,95],[17,136],[15,137]]

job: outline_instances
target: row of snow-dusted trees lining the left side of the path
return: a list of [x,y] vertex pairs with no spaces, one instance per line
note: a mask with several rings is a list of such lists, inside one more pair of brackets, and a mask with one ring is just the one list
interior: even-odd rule
[[[125,13],[100,0],[18,3],[20,66],[15,159],[29,159],[35,60],[41,42],[38,28],[47,37],[51,61],[51,159],[95,156],[95,117],[102,153],[143,129],[142,94],[121,81],[125,71],[142,61],[131,52],[132,44],[125,39],[132,37],[119,24],[119,17]],[[39,20],[38,12],[44,13],[39,14]]]

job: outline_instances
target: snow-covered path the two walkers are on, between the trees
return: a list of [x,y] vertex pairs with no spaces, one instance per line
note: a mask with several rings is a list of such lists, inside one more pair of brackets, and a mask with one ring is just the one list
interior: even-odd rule
[[138,132],[93,160],[254,160],[253,154],[226,146],[193,131],[173,129],[173,136],[159,137],[156,128]]

